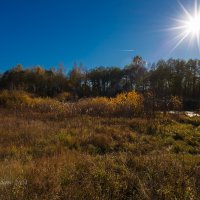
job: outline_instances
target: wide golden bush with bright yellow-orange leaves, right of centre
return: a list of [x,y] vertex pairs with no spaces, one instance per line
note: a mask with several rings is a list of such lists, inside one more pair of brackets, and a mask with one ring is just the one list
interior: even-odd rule
[[143,96],[136,92],[122,93],[115,98],[96,97],[79,101],[81,114],[98,116],[141,116]]

